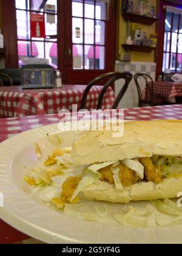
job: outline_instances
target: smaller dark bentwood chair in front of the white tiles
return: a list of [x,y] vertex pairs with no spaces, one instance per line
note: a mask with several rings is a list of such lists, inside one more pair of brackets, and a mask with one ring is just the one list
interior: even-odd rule
[[[146,88],[146,99],[143,99],[142,97],[142,91],[140,87],[140,79],[143,78],[146,82],[145,88]],[[143,73],[137,73],[134,76],[136,88],[138,91],[138,107],[143,107],[144,105],[166,105],[166,101],[162,97],[158,97],[155,95],[153,96],[153,79],[147,74]],[[149,84],[150,82],[150,84]]]

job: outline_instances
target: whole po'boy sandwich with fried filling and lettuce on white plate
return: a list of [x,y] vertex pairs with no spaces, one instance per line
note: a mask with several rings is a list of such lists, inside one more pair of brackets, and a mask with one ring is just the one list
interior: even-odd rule
[[73,142],[72,160],[82,174],[66,181],[72,190],[69,202],[83,197],[127,204],[177,197],[182,192],[182,121],[127,122],[120,138],[112,131],[84,132]]

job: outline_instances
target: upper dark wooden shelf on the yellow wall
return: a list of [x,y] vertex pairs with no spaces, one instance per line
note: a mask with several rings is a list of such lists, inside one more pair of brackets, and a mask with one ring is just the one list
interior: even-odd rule
[[125,21],[130,21],[133,23],[140,23],[140,24],[146,24],[146,25],[152,25],[156,21],[158,21],[157,18],[150,18],[147,16],[142,15],[136,15],[133,13],[123,13],[123,18]]

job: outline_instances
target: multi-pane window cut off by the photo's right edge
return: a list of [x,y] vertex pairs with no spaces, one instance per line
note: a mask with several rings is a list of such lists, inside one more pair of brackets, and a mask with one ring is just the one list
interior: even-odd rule
[[182,10],[166,7],[163,72],[182,72]]

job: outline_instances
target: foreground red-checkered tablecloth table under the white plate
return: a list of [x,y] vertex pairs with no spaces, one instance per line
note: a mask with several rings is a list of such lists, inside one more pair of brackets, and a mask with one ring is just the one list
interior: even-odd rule
[[[182,105],[127,108],[124,110],[124,119],[182,119]],[[0,119],[0,141],[24,132],[25,130],[58,123],[59,120],[60,118],[57,114]],[[4,233],[2,233],[2,231],[0,232],[0,243],[16,243],[27,238],[26,235],[18,232],[1,220],[0,230],[4,230]]]

